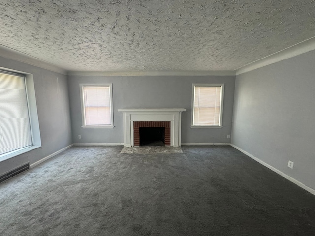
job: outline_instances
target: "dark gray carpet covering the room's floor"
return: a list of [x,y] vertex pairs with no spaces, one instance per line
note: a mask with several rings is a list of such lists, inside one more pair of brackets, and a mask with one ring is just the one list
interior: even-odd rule
[[315,196],[230,147],[73,147],[0,184],[1,236],[312,236]]

